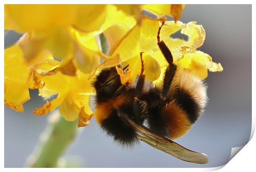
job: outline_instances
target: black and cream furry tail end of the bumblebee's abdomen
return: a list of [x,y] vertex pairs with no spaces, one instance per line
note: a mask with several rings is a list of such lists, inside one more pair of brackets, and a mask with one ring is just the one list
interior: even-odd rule
[[207,103],[206,84],[192,70],[180,69],[173,78],[168,97],[175,99],[185,110],[193,124],[204,111]]

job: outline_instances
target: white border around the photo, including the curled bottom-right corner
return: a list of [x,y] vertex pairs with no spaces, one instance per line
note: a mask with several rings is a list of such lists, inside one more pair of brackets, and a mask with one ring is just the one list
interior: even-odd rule
[[[48,4],[59,4],[59,1],[57,0],[37,0],[37,1],[34,1],[34,0],[23,0],[23,1],[20,1],[20,0],[2,0],[1,1],[1,23],[2,23],[2,26],[3,26],[3,23],[4,23],[4,5],[3,4],[19,4],[19,3],[23,3],[23,4],[45,4],[45,3],[48,3]],[[61,3],[62,4],[70,4],[70,3],[74,3],[74,4],[82,4],[82,3],[85,3],[87,1],[85,0],[62,0]],[[93,3],[111,3],[111,4],[114,4],[114,3],[120,3],[120,0],[108,0],[108,1],[102,1],[102,0],[93,0],[93,1],[89,1],[90,2],[93,2]],[[166,3],[170,3],[169,1],[166,1],[166,0],[158,0],[158,1],[153,1],[153,0],[140,0],[140,1],[136,1],[136,3],[140,3],[140,4],[155,4],[155,3],[159,3],[159,4],[166,4]],[[173,0],[171,1],[171,3],[175,4],[175,3],[185,3],[185,4],[190,4],[191,2],[193,2],[194,4],[227,4],[228,2],[230,1],[224,1],[224,0],[215,0],[215,1],[203,1],[203,0],[194,0],[194,1],[185,1],[185,0]],[[243,0],[243,1],[232,1],[233,3],[235,4],[253,4],[254,1],[252,0]],[[88,3],[88,2],[87,2]],[[122,0],[122,3],[123,4],[131,4],[131,3],[134,3],[134,2],[131,2],[130,0]],[[252,5],[252,19],[255,19],[255,7],[254,7],[254,4]],[[214,16],[214,14],[213,14]],[[1,38],[1,47],[4,47],[4,27],[1,27],[2,28],[2,34],[0,35],[0,38]],[[252,22],[252,30],[255,30],[255,23]],[[252,47],[255,47],[255,34],[254,32],[252,33]],[[1,48],[0,49],[0,52],[1,52],[1,55],[2,55],[2,58],[1,58],[1,62],[0,63],[0,67],[1,67],[1,81],[3,81],[3,78],[4,78],[4,72],[3,72],[3,69],[4,69],[4,58],[3,58],[3,54],[4,54],[4,49]],[[255,58],[255,53],[254,51],[252,51],[252,57]],[[256,60],[252,58],[252,64],[256,64]],[[241,61],[242,63],[242,61]],[[256,88],[255,86],[255,79],[253,79],[256,75],[255,75],[255,70],[254,70],[254,66],[252,66],[252,88]],[[2,112],[4,111],[4,83],[1,82],[0,83],[0,89],[2,90],[1,91],[1,104],[0,104],[0,108],[2,109]],[[252,90],[252,95],[255,95],[255,91]],[[251,171],[251,169],[255,169],[255,160],[254,160],[254,155],[255,155],[255,145],[256,145],[256,139],[251,139],[252,136],[254,135],[254,130],[255,130],[255,108],[254,108],[254,105],[255,104],[255,99],[254,99],[254,96],[252,96],[252,130],[251,130],[251,137],[250,137],[250,142],[244,146],[243,148],[243,151],[240,151],[238,153],[237,156],[235,156],[234,158],[232,158],[232,160],[230,160],[230,162],[224,167],[222,168],[220,171],[241,171],[241,170],[245,170],[245,171]],[[1,156],[1,167],[3,168],[4,167],[4,112],[2,113],[1,117],[2,117],[2,120],[1,120],[1,138],[2,138],[2,142],[0,142],[1,144],[1,148],[2,148],[2,156]],[[15,156],[15,155],[14,155]],[[223,167],[223,166],[222,166]],[[175,172],[184,172],[184,171],[190,171],[190,172],[200,172],[200,171],[213,171],[213,170],[218,170],[220,169],[221,167],[214,167],[214,168],[190,168],[190,169],[187,169],[187,168],[172,168],[172,169],[163,169],[161,168],[160,170],[161,171],[170,171],[170,170],[174,170]],[[3,169],[4,171],[13,171],[14,169],[12,168],[5,168]],[[26,172],[34,172],[35,170],[38,170],[38,171],[45,171],[45,169],[29,169],[29,168],[21,168],[19,169],[19,171],[26,171]],[[47,169],[47,171],[53,171],[55,169]],[[69,171],[71,169],[58,169],[58,170],[61,170],[61,171]],[[76,169],[72,169],[72,171],[78,171],[78,170],[81,170],[79,168],[76,168]],[[87,168],[86,171],[95,171],[95,170],[102,170],[102,169],[97,169],[97,168],[94,168],[94,169],[90,169],[90,168]],[[115,172],[115,171],[119,171],[120,169],[118,168],[106,168],[104,169],[104,171],[106,172]],[[128,171],[130,169],[122,169],[122,171]],[[141,168],[134,168],[133,170],[135,171],[141,171],[142,169]],[[143,169],[145,170],[145,169]],[[150,168],[150,169],[147,169],[149,171],[155,171],[155,169],[153,168]]]

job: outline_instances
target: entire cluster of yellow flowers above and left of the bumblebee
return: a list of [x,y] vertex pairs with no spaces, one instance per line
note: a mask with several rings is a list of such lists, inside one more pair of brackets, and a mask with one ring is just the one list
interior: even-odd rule
[[[5,49],[5,105],[24,112],[30,99],[28,89],[39,89],[40,96],[57,98],[34,109],[45,115],[59,107],[68,121],[78,118],[78,126],[89,124],[92,110],[93,75],[105,67],[129,64],[131,82],[140,73],[140,52],[145,52],[145,74],[157,83],[167,65],[156,44],[161,40],[171,50],[176,64],[191,69],[201,79],[222,71],[211,56],[197,51],[205,40],[205,30],[196,22],[178,21],[185,5],[5,5],[5,29],[24,33]],[[142,10],[154,14],[149,18]],[[173,39],[180,31],[188,40]],[[99,35],[104,34],[109,54],[102,53]],[[103,59],[103,60],[101,60]]]

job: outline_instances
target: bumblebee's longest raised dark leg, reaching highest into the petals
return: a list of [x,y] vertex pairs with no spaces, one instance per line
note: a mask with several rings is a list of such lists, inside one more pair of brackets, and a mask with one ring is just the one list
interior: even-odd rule
[[162,26],[164,25],[164,22],[159,27],[158,33],[157,33],[157,45],[159,46],[159,49],[163,53],[166,61],[169,63],[165,75],[164,75],[164,85],[162,90],[162,95],[166,96],[169,90],[169,87],[171,85],[171,81],[173,80],[173,76],[175,74],[175,71],[177,69],[177,66],[173,63],[173,56],[171,54],[171,51],[168,49],[164,41],[160,41],[160,30]]

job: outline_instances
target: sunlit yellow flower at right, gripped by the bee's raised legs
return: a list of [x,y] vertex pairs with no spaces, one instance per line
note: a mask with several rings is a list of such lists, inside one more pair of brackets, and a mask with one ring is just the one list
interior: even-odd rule
[[[132,70],[131,77],[133,81],[137,77],[137,74],[140,74],[140,52],[143,53],[143,59],[145,61],[145,75],[148,81],[155,81],[159,79],[161,73],[163,73],[163,68],[168,65],[164,56],[162,55],[158,45],[156,35],[161,25],[161,21],[164,18],[158,19],[149,19],[144,17],[141,21],[141,25],[135,25],[132,29],[128,30],[125,34],[120,34],[119,38],[112,37],[109,33],[114,33],[117,28],[108,28],[104,34],[107,37],[108,42],[111,44],[111,49],[109,52],[110,56],[119,54],[123,65],[129,64],[129,70]],[[120,28],[119,28],[120,30]],[[178,32],[188,36],[188,40],[173,39],[170,35]],[[117,31],[118,33],[123,33]],[[193,69],[196,74],[198,74],[201,79],[204,79],[207,76],[207,68],[211,68],[210,71],[222,71],[220,64],[212,63],[212,61],[207,61],[205,54],[201,55],[203,59],[207,61],[203,67],[195,67],[200,65],[202,62],[196,60],[198,53],[190,54],[197,52],[197,48],[200,47],[205,40],[205,30],[201,25],[197,25],[196,22],[190,22],[184,24],[180,21],[166,21],[165,25],[162,27],[160,32],[161,40],[163,40],[168,48],[171,50],[173,55],[174,63],[179,63],[181,67]],[[113,38],[113,39],[112,39]],[[113,43],[114,42],[114,43]],[[183,63],[188,62],[187,58],[183,59],[183,56],[192,56],[193,66],[192,65],[183,65]],[[209,55],[207,55],[209,56]],[[185,60],[187,59],[187,60]],[[191,61],[191,60],[190,60]],[[215,65],[213,65],[215,64]],[[211,67],[210,67],[211,66]]]

